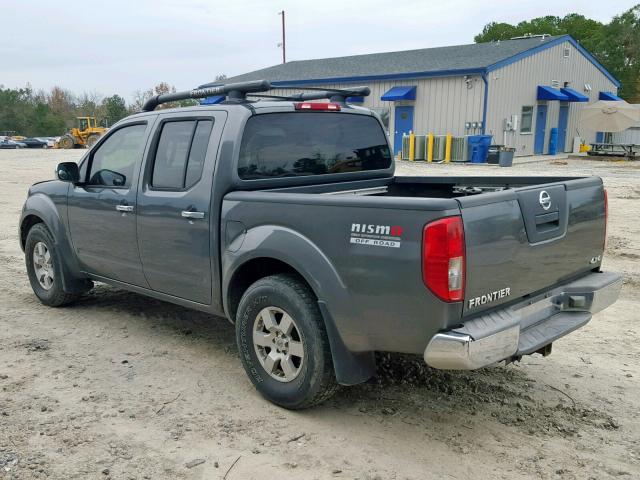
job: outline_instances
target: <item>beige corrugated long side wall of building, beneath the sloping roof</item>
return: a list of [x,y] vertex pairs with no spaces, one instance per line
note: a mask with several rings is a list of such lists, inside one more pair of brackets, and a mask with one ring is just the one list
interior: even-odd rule
[[[393,135],[394,106],[414,105],[413,128],[417,134],[433,132],[438,135],[451,133],[465,135],[465,122],[482,121],[484,83],[479,76],[470,76],[468,82],[463,77],[437,77],[414,80],[371,81],[359,83],[318,84],[318,87],[349,88],[366,85],[371,95],[365,97],[363,106],[390,109],[390,132]],[[415,102],[383,102],[380,97],[390,88],[417,86]],[[274,95],[290,95],[299,90],[274,90]]]

